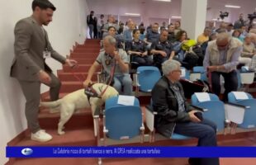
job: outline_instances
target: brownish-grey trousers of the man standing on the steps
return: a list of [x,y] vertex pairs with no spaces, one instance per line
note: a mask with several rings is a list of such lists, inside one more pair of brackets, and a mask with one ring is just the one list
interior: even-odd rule
[[[61,83],[53,73],[49,73],[51,82],[45,84],[50,87],[50,100],[56,101],[59,99],[59,89]],[[27,126],[32,133],[36,133],[40,130],[38,121],[38,112],[40,105],[40,82],[28,82],[18,80],[21,85],[21,90],[26,98],[25,115]]]

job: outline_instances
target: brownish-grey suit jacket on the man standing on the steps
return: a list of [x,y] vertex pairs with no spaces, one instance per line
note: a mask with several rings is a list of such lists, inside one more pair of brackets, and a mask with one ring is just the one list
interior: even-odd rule
[[51,47],[47,32],[32,16],[17,22],[14,35],[15,57],[12,61],[11,77],[22,81],[39,81],[37,73],[40,69],[51,72],[43,57],[46,42],[51,57],[65,63],[65,58]]

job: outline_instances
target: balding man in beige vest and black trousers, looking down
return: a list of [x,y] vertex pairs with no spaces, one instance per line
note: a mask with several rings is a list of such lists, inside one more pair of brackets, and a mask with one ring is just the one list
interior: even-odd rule
[[232,38],[229,33],[223,32],[217,35],[216,40],[208,43],[204,68],[211,74],[212,91],[220,95],[220,75],[225,79],[225,92],[223,101],[227,101],[227,94],[237,91],[238,78],[236,66],[239,64],[239,56],[243,50],[242,43]]

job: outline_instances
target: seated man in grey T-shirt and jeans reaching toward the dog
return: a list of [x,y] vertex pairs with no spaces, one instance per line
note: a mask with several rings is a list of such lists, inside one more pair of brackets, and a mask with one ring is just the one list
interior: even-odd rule
[[126,51],[116,51],[116,39],[111,35],[107,35],[104,38],[103,47],[104,50],[100,52],[96,61],[89,69],[88,77],[83,82],[83,86],[88,87],[88,85],[92,83],[92,75],[97,72],[101,65],[108,77],[111,76],[111,70],[116,67],[114,70],[113,87],[115,87],[116,91],[119,93],[121,93],[121,88],[123,87],[123,94],[131,95],[132,86],[129,74],[129,61]]

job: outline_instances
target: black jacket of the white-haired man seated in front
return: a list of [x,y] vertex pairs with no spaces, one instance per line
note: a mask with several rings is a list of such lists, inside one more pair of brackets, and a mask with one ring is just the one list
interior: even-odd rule
[[186,111],[183,112],[178,111],[178,101],[170,88],[168,78],[160,78],[152,90],[153,109],[158,112],[154,118],[154,127],[160,134],[168,138],[173,134],[175,123],[190,121],[187,112],[191,111],[192,107],[187,104],[180,82],[178,82],[178,87],[185,101]]

